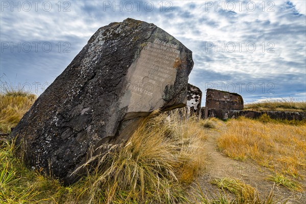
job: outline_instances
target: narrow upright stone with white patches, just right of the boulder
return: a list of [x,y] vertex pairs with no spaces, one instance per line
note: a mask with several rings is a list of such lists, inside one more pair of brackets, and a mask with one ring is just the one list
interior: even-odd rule
[[200,115],[201,113],[202,91],[191,84],[187,88],[187,109],[189,115]]

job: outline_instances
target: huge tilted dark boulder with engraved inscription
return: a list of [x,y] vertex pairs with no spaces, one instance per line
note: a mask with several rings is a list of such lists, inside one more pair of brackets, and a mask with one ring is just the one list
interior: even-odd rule
[[152,111],[186,105],[192,52],[156,25],[127,18],[101,27],[11,134],[30,168],[64,184],[103,144],[125,142]]

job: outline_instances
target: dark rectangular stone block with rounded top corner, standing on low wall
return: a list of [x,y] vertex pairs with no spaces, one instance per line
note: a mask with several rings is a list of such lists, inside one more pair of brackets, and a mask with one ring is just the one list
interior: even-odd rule
[[243,98],[237,93],[207,89],[206,107],[208,109],[242,110]]

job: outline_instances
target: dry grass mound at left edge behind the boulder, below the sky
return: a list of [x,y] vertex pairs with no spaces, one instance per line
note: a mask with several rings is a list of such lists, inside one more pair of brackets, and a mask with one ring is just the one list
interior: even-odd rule
[[36,100],[36,95],[22,91],[0,94],[0,132],[10,133]]

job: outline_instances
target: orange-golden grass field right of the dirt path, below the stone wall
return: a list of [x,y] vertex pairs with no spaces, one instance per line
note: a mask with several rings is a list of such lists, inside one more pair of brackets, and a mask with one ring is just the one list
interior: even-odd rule
[[244,117],[229,120],[218,147],[228,157],[251,159],[275,173],[302,179],[306,169],[305,125],[263,123]]

